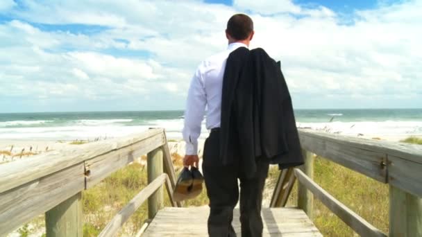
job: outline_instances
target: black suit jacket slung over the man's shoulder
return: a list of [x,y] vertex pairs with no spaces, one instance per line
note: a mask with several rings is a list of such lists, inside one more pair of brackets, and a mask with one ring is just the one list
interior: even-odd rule
[[280,62],[263,49],[244,47],[228,56],[221,100],[220,155],[252,177],[255,159],[288,168],[303,164],[301,145]]

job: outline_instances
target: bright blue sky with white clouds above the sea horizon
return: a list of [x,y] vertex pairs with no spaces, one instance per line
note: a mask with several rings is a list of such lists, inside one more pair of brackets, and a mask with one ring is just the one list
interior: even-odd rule
[[0,113],[184,109],[239,12],[296,109],[422,107],[421,0],[1,0]]

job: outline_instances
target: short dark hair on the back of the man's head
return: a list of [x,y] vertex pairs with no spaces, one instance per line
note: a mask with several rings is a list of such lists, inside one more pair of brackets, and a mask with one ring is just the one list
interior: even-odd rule
[[246,40],[253,31],[251,17],[244,14],[236,14],[227,21],[227,33],[235,40]]

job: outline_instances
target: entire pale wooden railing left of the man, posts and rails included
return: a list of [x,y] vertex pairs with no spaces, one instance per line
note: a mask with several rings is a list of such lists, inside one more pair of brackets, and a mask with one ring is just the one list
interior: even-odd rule
[[144,154],[148,154],[149,185],[112,218],[100,236],[115,236],[147,198],[152,219],[163,206],[163,184],[171,204],[180,207],[172,198],[176,175],[164,130],[151,129],[1,165],[0,236],[43,213],[47,236],[82,236],[81,191]]

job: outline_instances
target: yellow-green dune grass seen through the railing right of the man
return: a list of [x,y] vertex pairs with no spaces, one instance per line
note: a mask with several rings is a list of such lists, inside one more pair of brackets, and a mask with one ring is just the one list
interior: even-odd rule
[[[269,179],[276,180],[278,174],[276,167],[271,168]],[[389,191],[387,184],[382,184],[321,157],[315,157],[314,181],[359,216],[388,233]],[[296,206],[297,181],[287,202],[287,207]],[[316,198],[313,211],[312,220],[323,236],[357,236],[348,225]]]

